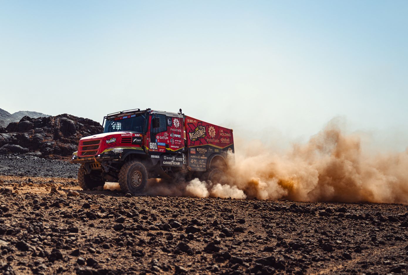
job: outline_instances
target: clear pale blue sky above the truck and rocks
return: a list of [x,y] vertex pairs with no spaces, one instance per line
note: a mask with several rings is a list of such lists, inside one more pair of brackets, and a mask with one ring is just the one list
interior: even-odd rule
[[0,108],[100,122],[182,108],[265,141],[339,116],[404,149],[407,14],[408,1],[1,1]]

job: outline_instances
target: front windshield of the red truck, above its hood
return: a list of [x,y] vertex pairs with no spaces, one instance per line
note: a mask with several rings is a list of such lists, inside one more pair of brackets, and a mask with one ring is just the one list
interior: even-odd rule
[[118,132],[118,131],[133,131],[138,133],[145,133],[143,127],[147,127],[146,114],[125,115],[120,118],[106,120],[104,133]]

